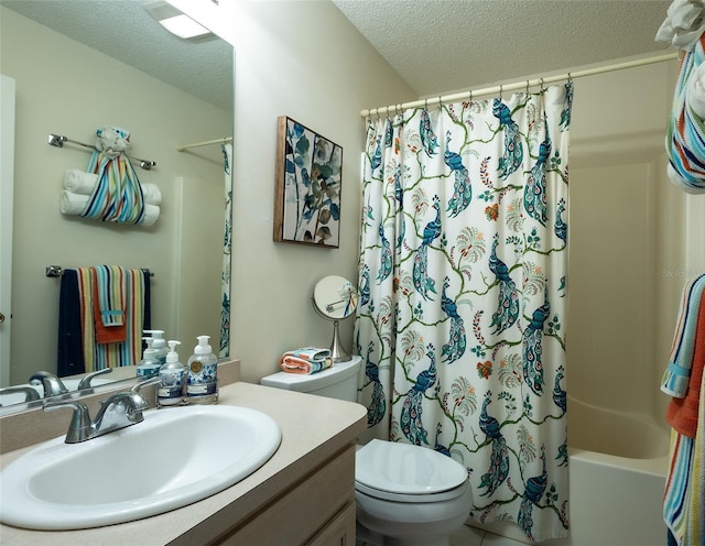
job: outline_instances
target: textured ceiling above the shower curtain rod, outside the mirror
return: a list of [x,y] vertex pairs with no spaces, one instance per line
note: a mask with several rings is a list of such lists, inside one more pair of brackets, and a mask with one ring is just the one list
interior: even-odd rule
[[419,97],[664,53],[654,36],[671,4],[671,0],[333,2]]

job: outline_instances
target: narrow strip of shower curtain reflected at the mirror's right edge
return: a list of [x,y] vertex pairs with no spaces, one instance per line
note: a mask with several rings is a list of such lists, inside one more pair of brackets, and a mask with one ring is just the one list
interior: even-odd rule
[[232,144],[221,144],[225,172],[225,221],[223,272],[220,274],[220,348],[218,357],[230,356],[230,252],[232,250]]

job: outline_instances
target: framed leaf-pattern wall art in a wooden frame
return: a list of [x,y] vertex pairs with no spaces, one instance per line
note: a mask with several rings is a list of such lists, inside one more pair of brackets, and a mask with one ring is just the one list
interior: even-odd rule
[[278,118],[274,241],[338,248],[341,172],[343,148]]

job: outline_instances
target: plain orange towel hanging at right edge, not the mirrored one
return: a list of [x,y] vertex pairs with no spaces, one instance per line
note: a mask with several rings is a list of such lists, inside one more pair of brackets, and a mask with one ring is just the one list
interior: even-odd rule
[[697,326],[693,343],[693,365],[688,379],[687,392],[683,398],[671,398],[666,411],[666,421],[675,430],[688,438],[695,438],[697,432],[697,412],[699,408],[701,385],[705,369],[705,298],[701,301]]

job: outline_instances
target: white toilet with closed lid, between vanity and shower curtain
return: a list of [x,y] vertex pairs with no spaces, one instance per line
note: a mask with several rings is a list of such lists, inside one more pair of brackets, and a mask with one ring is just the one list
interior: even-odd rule
[[[279,372],[260,383],[355,402],[361,360],[311,375]],[[465,468],[449,457],[375,439],[357,449],[355,499],[358,544],[447,546],[469,513],[471,491]]]

